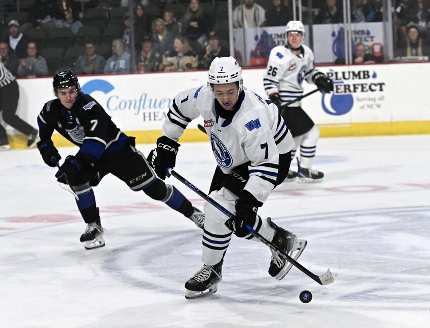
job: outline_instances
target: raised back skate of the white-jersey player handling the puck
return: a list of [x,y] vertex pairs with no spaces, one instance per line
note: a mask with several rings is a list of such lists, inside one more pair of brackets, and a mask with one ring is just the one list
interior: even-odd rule
[[[305,250],[308,242],[305,239],[297,239],[294,233],[278,227],[272,222],[271,218],[267,218],[267,222],[276,230],[272,243],[288,254],[288,256],[297,260]],[[291,269],[292,264],[286,260],[283,254],[273,250],[271,250],[271,252],[272,260],[270,262],[269,274],[275,277],[276,280],[281,280]]]

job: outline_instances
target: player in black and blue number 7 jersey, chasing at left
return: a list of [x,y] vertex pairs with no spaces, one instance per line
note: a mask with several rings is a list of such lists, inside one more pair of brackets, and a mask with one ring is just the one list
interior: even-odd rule
[[103,107],[93,97],[81,92],[78,79],[71,70],[55,74],[53,89],[57,98],[48,101],[37,117],[40,130],[37,148],[45,163],[55,167],[61,156],[51,140],[54,130],[79,146],[75,155],[65,158],[55,177],[60,183],[70,183],[77,195],[77,207],[87,223],[80,237],[85,249],[105,245],[105,229],[100,222],[92,187],[109,173],[133,191],[143,190],[152,199],[161,200],[188,217],[199,228],[203,227],[204,214],[174,186],[155,176],[146,158],[135,148],[135,138],[121,132]]

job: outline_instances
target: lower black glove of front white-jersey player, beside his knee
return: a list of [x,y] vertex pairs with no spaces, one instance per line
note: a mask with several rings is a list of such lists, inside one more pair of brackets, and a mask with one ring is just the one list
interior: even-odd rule
[[240,198],[236,200],[236,215],[226,221],[226,227],[238,237],[247,236],[249,230],[246,225],[254,227],[257,211],[262,205],[249,191],[242,190]]

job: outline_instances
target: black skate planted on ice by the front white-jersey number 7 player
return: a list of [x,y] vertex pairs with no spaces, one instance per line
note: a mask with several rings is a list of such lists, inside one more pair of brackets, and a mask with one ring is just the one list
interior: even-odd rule
[[216,293],[218,282],[221,281],[223,260],[216,265],[203,265],[194,277],[185,283],[185,298],[190,300],[196,297]]

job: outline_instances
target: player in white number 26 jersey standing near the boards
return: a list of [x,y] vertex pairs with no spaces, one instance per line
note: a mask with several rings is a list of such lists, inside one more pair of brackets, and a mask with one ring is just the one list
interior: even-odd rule
[[314,53],[303,45],[305,27],[300,21],[289,21],[286,26],[287,44],[273,48],[269,55],[264,88],[269,98],[278,106],[281,116],[294,137],[295,146],[291,158],[300,147],[298,172],[289,171],[288,181],[298,177],[298,182],[317,182],[324,177],[322,172],[312,170],[320,132],[314,121],[297,101],[286,106],[288,101],[303,95],[303,81],[313,83],[320,92],[333,91],[332,81],[314,67]]

